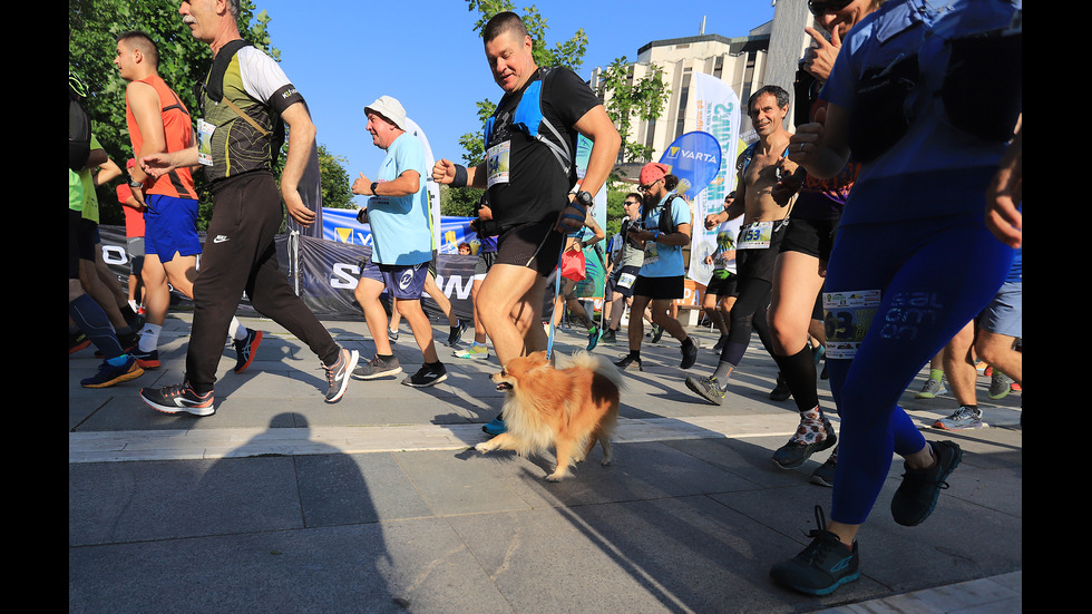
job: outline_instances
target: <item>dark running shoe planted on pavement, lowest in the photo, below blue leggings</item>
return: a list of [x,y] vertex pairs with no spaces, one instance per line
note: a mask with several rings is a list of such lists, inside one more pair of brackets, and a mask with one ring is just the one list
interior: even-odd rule
[[860,577],[860,553],[827,530],[822,508],[816,506],[816,526],[808,533],[811,544],[800,554],[770,568],[770,577],[781,586],[806,595],[829,595]]

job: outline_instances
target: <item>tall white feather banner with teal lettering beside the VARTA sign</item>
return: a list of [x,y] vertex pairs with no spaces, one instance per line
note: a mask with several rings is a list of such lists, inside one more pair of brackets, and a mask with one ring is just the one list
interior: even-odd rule
[[[705,216],[723,211],[724,196],[735,188],[735,158],[739,155],[740,100],[735,91],[716,77],[694,72],[691,92],[695,101],[698,130],[709,133],[720,144],[720,169],[709,183],[709,187],[691,201],[694,212],[694,227],[690,244],[690,279],[708,284],[713,274],[712,265],[705,264],[705,256],[716,250],[718,232],[739,232],[742,216],[725,222],[719,228],[705,230]],[[729,226],[729,227],[724,227]],[[734,262],[730,264],[735,269]]]

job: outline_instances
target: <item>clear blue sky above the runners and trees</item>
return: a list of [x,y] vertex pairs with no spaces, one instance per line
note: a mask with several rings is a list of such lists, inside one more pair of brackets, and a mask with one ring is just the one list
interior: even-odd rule
[[[364,130],[363,108],[376,98],[398,98],[433,155],[457,162],[459,136],[480,128],[476,103],[500,99],[472,30],[477,13],[465,0],[255,0],[255,6],[271,18],[273,47],[308,100],[319,143],[348,160],[350,181],[360,173],[374,177],[383,159]],[[588,45],[578,69],[584,79],[615,58],[634,61],[637,49],[653,40],[696,36],[703,17],[705,33],[739,37],[772,20],[774,10],[771,0],[539,0],[534,6],[548,20],[549,47],[584,29]]]

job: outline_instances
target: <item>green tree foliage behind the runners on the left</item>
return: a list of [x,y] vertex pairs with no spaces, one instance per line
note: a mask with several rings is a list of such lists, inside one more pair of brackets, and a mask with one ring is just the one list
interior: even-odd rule
[[[125,162],[133,157],[133,146],[125,121],[126,82],[114,66],[117,37],[129,30],[140,30],[152,37],[159,49],[159,76],[178,94],[194,118],[197,99],[193,86],[208,71],[212,51],[206,43],[195,40],[182,22],[178,0],[69,0],[68,8],[69,70],[87,86],[82,103],[91,117],[95,136],[110,159],[124,169]],[[240,35],[280,60],[281,52],[270,39],[270,16],[265,10],[255,14],[254,10],[254,0],[241,0]],[[344,168],[339,166],[344,158],[330,155],[326,158],[322,166],[323,206],[328,203],[338,206],[349,199],[348,187],[343,189],[344,195],[339,193],[348,179]],[[283,160],[282,150],[282,167]],[[275,172],[280,176],[280,168]],[[201,198],[197,227],[205,230],[212,217],[212,196],[204,173],[194,173],[194,182]],[[98,197],[104,205],[116,203],[114,185],[99,186]],[[103,206],[100,212],[103,224],[124,223],[120,206]]]

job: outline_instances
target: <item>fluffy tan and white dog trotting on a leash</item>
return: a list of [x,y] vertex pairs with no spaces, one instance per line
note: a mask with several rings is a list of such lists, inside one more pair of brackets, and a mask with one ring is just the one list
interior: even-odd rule
[[546,352],[535,352],[509,360],[494,373],[497,390],[507,391],[501,413],[508,431],[475,449],[526,456],[554,445],[557,467],[546,476],[549,481],[567,476],[569,466],[584,460],[596,441],[603,448],[603,465],[610,465],[622,373],[610,360],[585,351],[567,362],[566,368],[555,369]]

